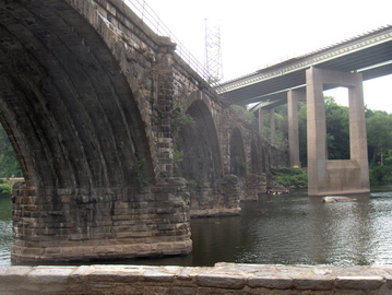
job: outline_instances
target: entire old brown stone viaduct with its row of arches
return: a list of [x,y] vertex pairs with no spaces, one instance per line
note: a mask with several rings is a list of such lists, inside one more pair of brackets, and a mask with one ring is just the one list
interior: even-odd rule
[[175,49],[120,0],[0,1],[14,262],[185,255],[265,191],[272,148]]

